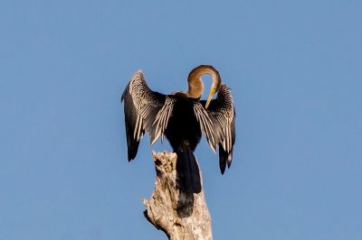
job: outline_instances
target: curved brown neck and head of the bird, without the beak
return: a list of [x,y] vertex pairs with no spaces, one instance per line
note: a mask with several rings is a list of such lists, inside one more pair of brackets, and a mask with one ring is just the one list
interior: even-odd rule
[[217,90],[220,88],[221,78],[219,72],[214,69],[213,66],[200,65],[188,74],[188,91],[186,93],[187,97],[200,98],[203,95],[204,83],[201,77],[205,74],[211,75],[213,85],[216,86]]

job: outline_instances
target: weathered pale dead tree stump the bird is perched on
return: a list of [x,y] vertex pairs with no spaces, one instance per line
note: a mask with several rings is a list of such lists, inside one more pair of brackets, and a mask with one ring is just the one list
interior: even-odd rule
[[176,153],[153,152],[153,158],[157,172],[156,187],[151,198],[144,199],[147,208],[145,217],[171,240],[213,239],[204,189],[196,194],[178,188]]

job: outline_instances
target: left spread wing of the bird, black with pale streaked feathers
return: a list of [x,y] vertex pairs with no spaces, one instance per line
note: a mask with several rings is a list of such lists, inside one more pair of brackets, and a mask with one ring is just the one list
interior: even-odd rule
[[175,99],[148,88],[142,71],[138,70],[129,80],[121,101],[124,101],[128,156],[131,161],[137,155],[139,140],[145,131],[151,144],[164,134]]

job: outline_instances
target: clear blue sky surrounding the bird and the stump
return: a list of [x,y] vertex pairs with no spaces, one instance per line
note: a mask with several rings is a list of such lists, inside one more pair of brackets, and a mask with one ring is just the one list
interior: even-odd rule
[[222,176],[205,143],[214,239],[362,239],[362,2],[2,1],[0,239],[166,239],[143,217],[145,137],[127,162],[119,97],[199,64],[233,90]]

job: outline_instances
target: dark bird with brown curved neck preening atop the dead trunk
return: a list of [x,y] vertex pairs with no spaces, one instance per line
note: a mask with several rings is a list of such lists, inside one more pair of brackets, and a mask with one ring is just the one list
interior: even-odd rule
[[[212,86],[207,99],[201,100],[204,75],[211,75]],[[142,70],[138,70],[123,91],[121,102],[124,102],[129,162],[136,158],[139,141],[145,133],[151,145],[166,137],[177,155],[180,189],[198,193],[202,187],[194,154],[196,146],[204,135],[213,152],[218,147],[219,167],[224,174],[233,160],[235,108],[231,89],[213,66],[192,69],[187,84],[187,91],[161,94],[148,87]]]

